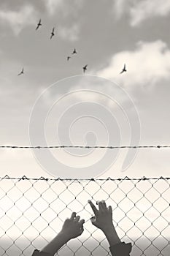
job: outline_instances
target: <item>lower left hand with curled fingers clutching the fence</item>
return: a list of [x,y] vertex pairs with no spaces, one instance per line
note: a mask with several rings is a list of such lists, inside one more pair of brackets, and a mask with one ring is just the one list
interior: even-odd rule
[[65,220],[63,223],[63,227],[61,233],[66,236],[66,238],[72,239],[80,236],[84,231],[83,224],[85,223],[85,219],[80,220],[80,216],[76,216],[76,212],[72,213],[72,216]]

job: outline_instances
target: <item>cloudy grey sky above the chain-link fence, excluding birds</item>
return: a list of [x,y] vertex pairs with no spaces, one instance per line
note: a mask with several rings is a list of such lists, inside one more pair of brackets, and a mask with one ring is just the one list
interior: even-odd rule
[[[169,0],[1,0],[1,146],[169,145],[169,14]],[[169,176],[169,148],[0,151],[0,176]]]

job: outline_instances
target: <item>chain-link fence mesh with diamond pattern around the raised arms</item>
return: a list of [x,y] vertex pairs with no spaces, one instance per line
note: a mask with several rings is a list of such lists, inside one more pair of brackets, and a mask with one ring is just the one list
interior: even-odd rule
[[131,255],[168,256],[170,178],[0,178],[0,255],[30,256],[61,230],[72,211],[85,219],[82,236],[58,255],[110,255],[104,234],[90,223],[88,199],[106,200]]

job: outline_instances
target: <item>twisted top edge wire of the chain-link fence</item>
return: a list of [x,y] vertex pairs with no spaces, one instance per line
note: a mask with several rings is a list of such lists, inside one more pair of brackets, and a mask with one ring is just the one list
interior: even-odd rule
[[146,181],[146,180],[170,180],[170,177],[159,177],[159,178],[147,178],[143,176],[142,178],[129,178],[125,176],[124,178],[45,178],[43,176],[39,178],[28,178],[26,176],[22,176],[20,178],[17,177],[9,177],[5,175],[0,177],[0,181],[3,179],[11,179],[11,180],[34,180],[34,181]]

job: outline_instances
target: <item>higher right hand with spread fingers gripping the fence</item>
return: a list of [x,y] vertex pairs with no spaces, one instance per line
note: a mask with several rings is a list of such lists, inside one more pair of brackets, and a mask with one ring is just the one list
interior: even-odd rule
[[94,204],[90,200],[88,200],[88,203],[90,204],[93,210],[93,213],[95,215],[92,218],[90,218],[94,226],[100,228],[104,232],[114,227],[112,223],[112,207],[111,206],[107,208],[107,205],[104,200],[98,201],[98,209],[96,208],[96,206],[94,206]]

